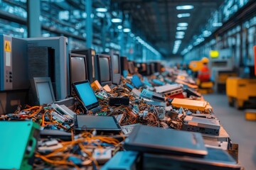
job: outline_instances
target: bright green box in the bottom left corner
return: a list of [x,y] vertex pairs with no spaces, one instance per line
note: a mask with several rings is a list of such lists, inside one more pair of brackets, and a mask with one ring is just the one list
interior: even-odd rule
[[40,125],[32,121],[1,121],[0,169],[32,169]]

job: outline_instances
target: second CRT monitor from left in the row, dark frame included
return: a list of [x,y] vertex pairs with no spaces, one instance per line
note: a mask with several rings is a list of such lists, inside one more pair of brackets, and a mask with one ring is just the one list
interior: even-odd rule
[[97,54],[97,69],[99,71],[100,84],[105,86],[106,84],[112,84],[112,64],[110,55]]

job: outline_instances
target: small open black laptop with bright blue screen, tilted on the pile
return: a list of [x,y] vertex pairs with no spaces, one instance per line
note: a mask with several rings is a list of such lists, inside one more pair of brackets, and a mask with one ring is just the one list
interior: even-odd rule
[[101,110],[101,106],[97,97],[95,96],[92,86],[90,86],[90,81],[77,81],[73,83],[75,93],[78,95],[82,101],[82,105],[87,111],[92,111],[92,113],[97,113]]

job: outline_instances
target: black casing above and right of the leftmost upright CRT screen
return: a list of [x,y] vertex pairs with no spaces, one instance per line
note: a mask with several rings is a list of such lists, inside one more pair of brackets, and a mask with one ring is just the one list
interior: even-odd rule
[[86,57],[86,69],[87,69],[87,78],[90,82],[93,82],[95,80],[99,81],[99,73],[97,70],[97,59],[95,57],[95,50],[92,48],[89,49],[78,49],[78,50],[71,50],[72,53],[79,54],[79,55],[85,55]]

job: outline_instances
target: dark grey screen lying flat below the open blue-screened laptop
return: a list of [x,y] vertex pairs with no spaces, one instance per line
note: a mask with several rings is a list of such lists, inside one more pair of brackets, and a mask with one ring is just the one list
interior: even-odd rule
[[77,115],[78,128],[119,129],[112,116]]

